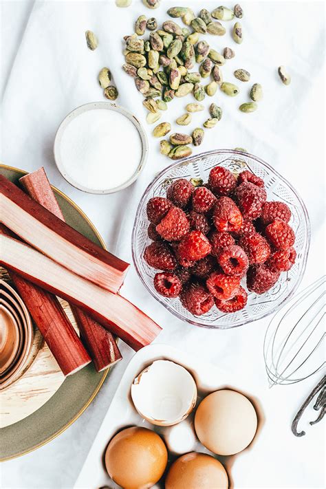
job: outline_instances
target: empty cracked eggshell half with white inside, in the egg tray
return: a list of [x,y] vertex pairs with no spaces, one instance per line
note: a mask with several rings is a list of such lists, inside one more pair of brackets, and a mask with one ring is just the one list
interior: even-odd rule
[[197,400],[197,386],[184,367],[170,360],[155,360],[131,385],[138,413],[151,424],[172,426],[185,420]]

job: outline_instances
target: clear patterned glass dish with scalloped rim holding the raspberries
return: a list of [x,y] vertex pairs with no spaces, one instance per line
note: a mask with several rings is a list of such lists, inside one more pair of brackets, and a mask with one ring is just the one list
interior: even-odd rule
[[[252,171],[252,173],[264,180],[268,200],[279,200],[290,207],[292,212],[290,225],[296,234],[294,248],[296,249],[297,257],[296,263],[294,263],[289,272],[283,272],[274,287],[268,292],[261,295],[250,292],[248,294],[248,303],[241,311],[225,314],[213,306],[206,314],[193,316],[191,312],[188,312],[182,306],[179,298],[165,298],[158,294],[153,286],[153,277],[156,270],[150,268],[143,258],[144,249],[151,242],[147,235],[149,220],[146,216],[146,204],[151,197],[157,195],[166,197],[166,189],[173,180],[178,178],[186,178],[187,180],[190,178],[202,178],[204,182],[207,182],[210,169],[217,165],[224,166],[233,173],[240,173],[243,170]],[[172,314],[193,325],[228,329],[245,325],[276,312],[292,296],[305,272],[309,243],[310,224],[307,209],[292,185],[272,169],[270,165],[254,155],[241,151],[218,149],[171,164],[149,184],[142,195],[135,217],[132,252],[133,262],[142,283],[144,283],[151,295]],[[241,282],[241,285],[246,287],[246,277]]]

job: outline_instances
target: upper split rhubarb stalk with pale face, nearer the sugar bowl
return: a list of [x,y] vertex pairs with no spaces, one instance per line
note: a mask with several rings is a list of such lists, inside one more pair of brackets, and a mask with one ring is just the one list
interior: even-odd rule
[[67,270],[118,292],[126,263],[81,235],[0,175],[1,222]]

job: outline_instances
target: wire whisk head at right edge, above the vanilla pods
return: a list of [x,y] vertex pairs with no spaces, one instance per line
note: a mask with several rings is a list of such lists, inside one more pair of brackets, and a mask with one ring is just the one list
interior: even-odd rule
[[300,382],[325,367],[326,276],[277,312],[265,334],[263,355],[270,387]]

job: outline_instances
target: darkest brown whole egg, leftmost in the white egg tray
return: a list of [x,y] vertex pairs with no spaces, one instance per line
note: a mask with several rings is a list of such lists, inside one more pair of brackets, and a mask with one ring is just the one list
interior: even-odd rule
[[167,461],[159,435],[138,426],[120,431],[105,452],[109,476],[124,489],[151,488],[162,477]]

